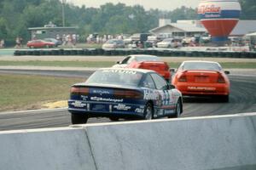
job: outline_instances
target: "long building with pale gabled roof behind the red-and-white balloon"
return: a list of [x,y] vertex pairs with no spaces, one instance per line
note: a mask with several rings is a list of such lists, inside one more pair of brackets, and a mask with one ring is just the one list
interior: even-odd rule
[[[243,37],[254,31],[256,31],[256,20],[239,20],[234,30],[230,33],[230,37]],[[177,20],[177,23],[168,23],[149,32],[156,36],[195,37],[207,34],[207,29],[201,25],[200,20]]]

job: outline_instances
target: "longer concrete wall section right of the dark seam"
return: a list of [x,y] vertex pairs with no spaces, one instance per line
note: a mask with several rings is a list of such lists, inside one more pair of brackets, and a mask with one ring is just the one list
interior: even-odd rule
[[98,169],[256,169],[256,114],[85,128]]

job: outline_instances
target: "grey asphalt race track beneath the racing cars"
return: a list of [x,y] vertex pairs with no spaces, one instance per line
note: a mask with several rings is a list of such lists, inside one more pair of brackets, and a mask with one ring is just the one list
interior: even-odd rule
[[[48,76],[88,77],[92,71],[0,71],[0,73],[38,74]],[[217,99],[184,97],[183,115],[212,116],[256,112],[256,75],[230,75],[229,103]],[[122,121],[122,120],[120,120]],[[110,122],[107,118],[90,118],[88,123]],[[41,127],[67,127],[70,125],[67,108],[44,111],[19,111],[0,113],[0,130],[30,129]]]

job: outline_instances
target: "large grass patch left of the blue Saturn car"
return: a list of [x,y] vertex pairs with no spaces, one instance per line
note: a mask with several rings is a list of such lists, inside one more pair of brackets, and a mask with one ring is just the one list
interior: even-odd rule
[[70,86],[82,78],[0,74],[0,111],[38,109],[68,99]]

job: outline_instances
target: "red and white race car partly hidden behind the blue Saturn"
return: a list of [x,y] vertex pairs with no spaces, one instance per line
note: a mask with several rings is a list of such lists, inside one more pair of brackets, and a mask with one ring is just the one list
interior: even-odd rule
[[154,55],[136,54],[128,55],[122,61],[118,61],[113,67],[147,69],[158,72],[167,82],[171,80],[169,65]]

